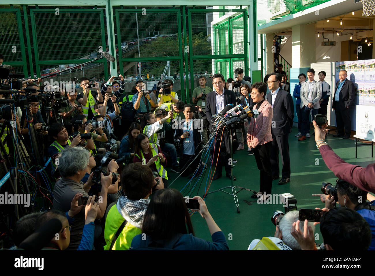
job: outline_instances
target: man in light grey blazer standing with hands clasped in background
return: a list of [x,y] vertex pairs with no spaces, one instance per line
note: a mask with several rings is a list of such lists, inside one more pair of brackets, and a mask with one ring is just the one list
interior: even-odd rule
[[314,69],[309,69],[307,71],[308,81],[305,81],[301,85],[302,136],[299,137],[299,141],[305,140],[306,134],[308,134],[307,137],[310,138],[310,114],[312,121],[314,120],[314,115],[318,114],[320,109],[319,100],[322,97],[322,86],[314,80],[314,75]]

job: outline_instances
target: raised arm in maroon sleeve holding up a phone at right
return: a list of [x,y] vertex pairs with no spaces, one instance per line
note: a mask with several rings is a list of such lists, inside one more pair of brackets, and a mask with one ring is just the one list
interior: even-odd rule
[[328,132],[328,124],[319,128],[315,121],[314,124],[315,142],[323,157],[324,163],[340,179],[343,179],[352,185],[368,191],[375,192],[375,163],[369,164],[366,168],[358,165],[352,165],[339,157],[325,141]]

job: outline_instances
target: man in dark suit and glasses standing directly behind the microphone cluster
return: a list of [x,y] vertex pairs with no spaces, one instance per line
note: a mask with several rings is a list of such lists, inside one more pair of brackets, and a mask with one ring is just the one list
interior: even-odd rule
[[[212,128],[212,115],[217,114],[221,112],[224,107],[227,104],[233,104],[233,106],[236,106],[236,96],[234,96],[234,93],[232,90],[227,90],[224,89],[225,86],[225,80],[222,74],[214,74],[212,76],[212,84],[213,88],[215,89],[213,92],[210,92],[207,94],[206,98],[206,115],[207,115],[207,120],[210,122],[210,128]],[[224,128],[223,130],[223,142],[224,144],[221,146],[220,151],[226,152],[225,157],[220,158],[222,156],[219,156],[219,160],[217,161],[217,166],[216,166],[216,172],[213,176],[213,180],[219,179],[222,174],[222,166],[225,164],[225,171],[226,171],[226,176],[228,178],[231,178],[231,167],[229,165],[229,158],[231,157],[230,155],[230,146],[229,146],[229,132]],[[214,129],[211,129],[210,133],[214,133]],[[220,133],[221,136],[221,133]],[[217,133],[217,137],[219,137],[219,133]],[[217,154],[219,154],[219,147],[220,147],[220,140],[216,140],[216,145],[215,145],[215,152],[213,156],[214,160],[214,165],[217,160]],[[234,149],[237,149],[237,145],[233,145]],[[224,164],[223,164],[224,163]],[[236,180],[236,177],[233,175],[233,180]]]

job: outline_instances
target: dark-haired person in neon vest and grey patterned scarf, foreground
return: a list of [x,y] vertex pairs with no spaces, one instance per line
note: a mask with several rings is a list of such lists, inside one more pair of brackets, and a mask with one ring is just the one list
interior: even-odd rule
[[125,196],[110,208],[105,220],[104,250],[129,249],[133,237],[142,233],[140,228],[151,193],[164,189],[162,178],[154,178],[151,169],[140,163],[131,163],[123,169],[121,186]]

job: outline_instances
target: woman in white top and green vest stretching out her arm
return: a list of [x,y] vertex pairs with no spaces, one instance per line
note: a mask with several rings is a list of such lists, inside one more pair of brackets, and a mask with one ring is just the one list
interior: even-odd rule
[[[150,139],[151,144],[156,144],[162,149],[162,152],[168,153],[172,161],[171,170],[175,173],[179,173],[178,162],[177,162],[177,152],[175,145],[166,143],[165,129],[166,122],[171,116],[173,116],[173,111],[169,110],[168,113],[165,110],[160,110],[157,108],[155,110],[157,116],[154,113],[148,112],[144,115],[141,122],[141,128],[143,128],[143,133],[147,135]],[[167,115],[165,115],[167,113]],[[160,138],[160,139],[159,139]]]

